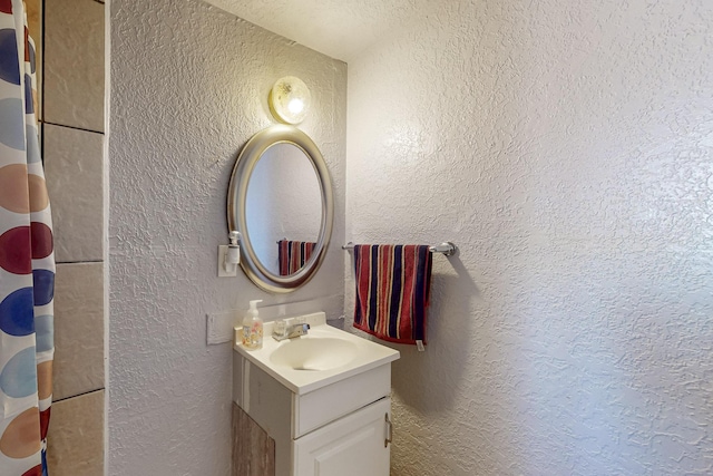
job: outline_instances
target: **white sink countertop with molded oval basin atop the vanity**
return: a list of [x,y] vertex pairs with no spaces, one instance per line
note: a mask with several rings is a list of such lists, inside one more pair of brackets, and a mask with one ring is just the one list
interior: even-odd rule
[[301,317],[311,329],[306,336],[276,341],[273,322],[264,326],[263,348],[234,349],[292,392],[318,388],[365,372],[399,358],[399,351],[326,324],[324,312]]

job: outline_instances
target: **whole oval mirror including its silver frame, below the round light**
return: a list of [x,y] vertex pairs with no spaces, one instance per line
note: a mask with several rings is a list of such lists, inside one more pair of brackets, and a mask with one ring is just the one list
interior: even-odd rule
[[332,221],[332,185],[314,142],[286,125],[255,134],[227,194],[228,231],[241,233],[245,274],[266,291],[294,291],[322,263]]

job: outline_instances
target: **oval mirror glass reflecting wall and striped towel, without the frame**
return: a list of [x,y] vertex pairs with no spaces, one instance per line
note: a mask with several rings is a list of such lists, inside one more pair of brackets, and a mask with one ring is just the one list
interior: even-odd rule
[[312,161],[291,143],[273,144],[247,185],[247,229],[257,259],[276,275],[299,272],[320,236],[322,196]]

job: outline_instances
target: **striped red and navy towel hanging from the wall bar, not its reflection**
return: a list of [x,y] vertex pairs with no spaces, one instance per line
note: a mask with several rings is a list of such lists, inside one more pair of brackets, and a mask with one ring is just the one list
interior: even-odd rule
[[391,342],[426,343],[431,262],[427,245],[355,245],[354,327]]

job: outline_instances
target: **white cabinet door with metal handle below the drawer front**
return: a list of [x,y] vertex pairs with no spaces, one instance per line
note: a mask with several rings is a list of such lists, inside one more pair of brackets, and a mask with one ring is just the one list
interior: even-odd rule
[[389,476],[391,399],[294,440],[294,476]]

